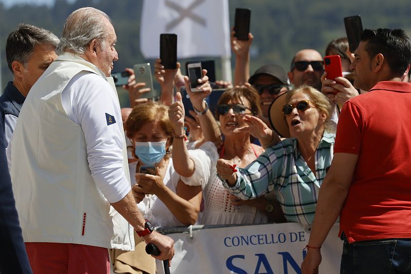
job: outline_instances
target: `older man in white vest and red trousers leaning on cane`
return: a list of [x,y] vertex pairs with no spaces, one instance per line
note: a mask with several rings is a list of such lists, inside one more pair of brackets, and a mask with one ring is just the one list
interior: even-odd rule
[[72,12],[59,57],[33,85],[17,121],[11,177],[34,273],[109,273],[107,248],[133,250],[133,228],[158,247],[156,259],[174,256],[173,240],[153,231],[131,192],[108,77],[116,40],[104,12]]

